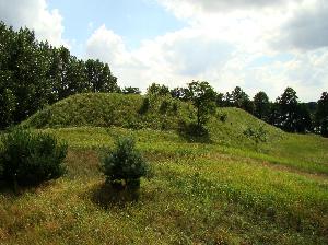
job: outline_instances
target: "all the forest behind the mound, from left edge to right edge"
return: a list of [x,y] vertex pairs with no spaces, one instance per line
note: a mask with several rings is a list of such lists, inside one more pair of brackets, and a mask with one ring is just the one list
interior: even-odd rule
[[[119,88],[109,66],[99,60],[82,60],[66,47],[38,42],[28,28],[14,31],[0,23],[0,128],[19,124],[44,106],[85,92],[140,94],[138,88]],[[169,89],[153,83],[148,94],[190,101],[195,94],[186,88]],[[212,91],[208,83],[207,89]],[[201,88],[201,86],[200,86]],[[198,91],[198,95],[201,91]],[[196,96],[198,96],[196,94]],[[271,102],[265,92],[251,100],[239,86],[232,92],[211,92],[220,107],[238,107],[289,132],[316,132],[328,137],[328,93],[318,102],[300,103],[296,92],[286,88]]]

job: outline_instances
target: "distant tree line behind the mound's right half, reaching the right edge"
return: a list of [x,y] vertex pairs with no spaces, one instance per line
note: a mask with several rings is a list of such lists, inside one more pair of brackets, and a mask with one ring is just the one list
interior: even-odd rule
[[315,132],[328,137],[328,93],[323,92],[318,102],[301,103],[295,90],[286,88],[271,102],[260,91],[251,100],[239,86],[225,94],[218,93],[208,82],[191,82],[186,88],[169,90],[165,85],[153,83],[147,93],[171,95],[181,101],[191,101],[197,108],[197,125],[201,125],[206,115],[212,112],[213,103],[219,107],[242,108],[270,125],[288,132]]

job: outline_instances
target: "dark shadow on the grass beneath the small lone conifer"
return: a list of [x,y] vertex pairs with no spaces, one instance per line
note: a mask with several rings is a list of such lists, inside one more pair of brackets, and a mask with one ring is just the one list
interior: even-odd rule
[[139,199],[139,189],[113,187],[110,184],[103,183],[93,187],[92,201],[99,207],[107,209],[113,206],[125,207],[127,203],[136,202]]

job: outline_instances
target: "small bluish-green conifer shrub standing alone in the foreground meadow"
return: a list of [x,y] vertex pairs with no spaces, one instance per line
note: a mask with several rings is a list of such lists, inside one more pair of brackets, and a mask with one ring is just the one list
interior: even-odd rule
[[140,178],[148,173],[147,162],[136,150],[134,140],[126,137],[116,141],[116,147],[103,160],[106,183],[114,188],[139,189]]

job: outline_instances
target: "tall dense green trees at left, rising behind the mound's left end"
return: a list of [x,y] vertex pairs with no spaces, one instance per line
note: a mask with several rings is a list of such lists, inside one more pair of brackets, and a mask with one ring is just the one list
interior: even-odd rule
[[0,128],[75,93],[120,90],[107,63],[78,59],[63,46],[38,42],[28,28],[0,22]]

